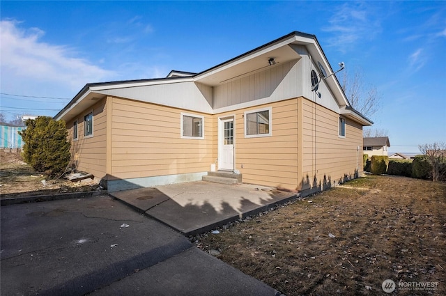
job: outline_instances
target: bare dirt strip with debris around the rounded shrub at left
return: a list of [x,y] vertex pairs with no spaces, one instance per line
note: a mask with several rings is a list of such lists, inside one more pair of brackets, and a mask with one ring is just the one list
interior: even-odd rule
[[17,150],[0,149],[0,198],[97,190],[93,180],[49,180],[26,164]]

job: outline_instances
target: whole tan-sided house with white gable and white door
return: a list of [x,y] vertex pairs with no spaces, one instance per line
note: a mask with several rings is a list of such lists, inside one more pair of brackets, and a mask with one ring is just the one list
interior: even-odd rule
[[372,124],[332,73],[316,36],[293,32],[203,72],[86,84],[54,118],[66,120],[73,166],[109,191],[201,180],[214,164],[243,182],[317,190],[362,172]]

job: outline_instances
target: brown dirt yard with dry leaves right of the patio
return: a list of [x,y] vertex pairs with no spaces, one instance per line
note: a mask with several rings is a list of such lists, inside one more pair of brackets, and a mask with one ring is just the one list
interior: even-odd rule
[[192,241],[289,296],[446,295],[445,233],[445,184],[368,176]]

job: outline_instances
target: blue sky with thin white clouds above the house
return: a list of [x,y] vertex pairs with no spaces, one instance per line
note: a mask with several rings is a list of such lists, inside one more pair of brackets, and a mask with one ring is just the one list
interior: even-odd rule
[[[446,142],[446,1],[1,1],[1,111],[54,116],[87,83],[201,72],[291,31],[375,87],[391,152]],[[39,97],[39,98],[31,98]],[[43,98],[46,97],[46,98]]]

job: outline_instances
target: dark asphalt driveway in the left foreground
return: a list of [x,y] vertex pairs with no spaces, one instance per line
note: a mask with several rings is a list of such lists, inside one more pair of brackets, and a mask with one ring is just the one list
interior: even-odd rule
[[276,295],[109,196],[1,207],[1,295]]

